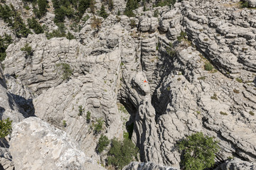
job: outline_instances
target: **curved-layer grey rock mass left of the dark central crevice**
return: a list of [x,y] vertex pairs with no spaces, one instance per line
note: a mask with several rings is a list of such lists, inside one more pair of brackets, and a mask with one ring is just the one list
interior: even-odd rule
[[[5,73],[10,75],[10,91],[23,96],[26,101],[35,98],[31,105],[27,104],[33,106],[36,116],[68,132],[83,151],[98,159],[95,147],[99,136],[94,134],[92,124],[102,119],[105,122],[102,132],[107,131],[110,139],[122,138],[123,132],[122,115],[117,110],[122,54],[122,48],[118,48],[121,43],[118,28],[116,26],[112,31],[105,28],[100,32],[100,42],[92,41],[87,45],[65,38],[46,40],[44,35],[30,35],[14,44],[12,48],[15,50],[7,50],[12,57],[4,61]],[[87,34],[93,31],[87,31]],[[27,42],[33,50],[29,57],[20,50]],[[21,60],[21,67],[14,69],[13,61],[17,59]],[[72,71],[68,79],[63,79],[63,63]],[[16,79],[14,75],[18,75]],[[82,107],[82,113],[79,107]],[[89,122],[87,112],[91,113]]]

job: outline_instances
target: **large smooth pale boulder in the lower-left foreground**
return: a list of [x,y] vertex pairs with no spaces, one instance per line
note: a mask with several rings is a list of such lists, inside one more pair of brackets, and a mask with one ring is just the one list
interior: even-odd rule
[[15,169],[103,169],[65,132],[35,117],[13,125],[10,152]]

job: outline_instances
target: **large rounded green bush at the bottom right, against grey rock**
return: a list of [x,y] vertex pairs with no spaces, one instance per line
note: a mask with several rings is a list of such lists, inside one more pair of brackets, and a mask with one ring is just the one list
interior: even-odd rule
[[181,166],[183,169],[203,170],[213,167],[215,153],[218,152],[219,147],[213,137],[196,132],[178,142],[178,149],[182,151]]

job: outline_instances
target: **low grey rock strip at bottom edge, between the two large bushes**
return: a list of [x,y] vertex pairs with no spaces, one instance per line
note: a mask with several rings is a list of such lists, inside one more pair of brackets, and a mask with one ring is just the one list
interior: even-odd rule
[[125,166],[122,170],[177,170],[170,166],[159,166],[152,162],[139,163],[132,162],[129,165]]

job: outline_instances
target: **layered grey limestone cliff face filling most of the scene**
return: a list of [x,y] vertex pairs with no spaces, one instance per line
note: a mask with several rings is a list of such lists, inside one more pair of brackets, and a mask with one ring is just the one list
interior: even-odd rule
[[[101,2],[95,6],[100,8]],[[98,29],[92,28],[90,13],[76,33],[65,21],[75,40],[33,34],[9,45],[2,62],[6,81],[0,74],[2,118],[19,122],[36,115],[98,161],[100,135],[93,126],[103,120],[101,133],[110,139],[122,139],[123,125],[133,125],[132,140],[142,162],[179,169],[176,142],[194,132],[220,141],[218,165],[236,157],[222,169],[256,162],[255,10],[238,8],[235,0],[193,0],[171,8],[137,8],[136,17],[128,18],[116,16],[124,11],[124,1],[114,1],[114,6]],[[48,10],[41,23],[53,29],[53,18]],[[1,35],[9,29],[3,27]],[[29,56],[21,51],[26,44],[32,49]],[[63,64],[72,72],[67,79]],[[15,164],[20,156],[14,154]],[[140,166],[133,163],[127,169]]]

